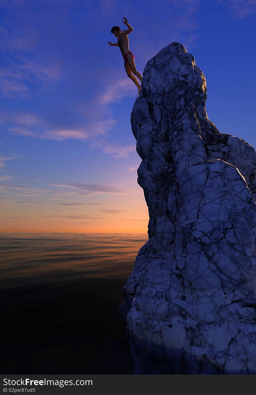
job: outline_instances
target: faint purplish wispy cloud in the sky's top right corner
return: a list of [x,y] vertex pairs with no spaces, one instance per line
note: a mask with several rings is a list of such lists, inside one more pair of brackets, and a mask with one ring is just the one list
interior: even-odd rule
[[256,14],[255,0],[218,0],[218,3],[226,6],[234,19],[244,19]]

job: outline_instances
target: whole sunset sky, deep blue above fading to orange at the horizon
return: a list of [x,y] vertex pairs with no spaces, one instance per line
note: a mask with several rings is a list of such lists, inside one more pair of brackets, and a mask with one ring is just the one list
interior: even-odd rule
[[123,17],[141,75],[183,44],[209,119],[256,147],[256,0],[1,0],[0,232],[147,233]]

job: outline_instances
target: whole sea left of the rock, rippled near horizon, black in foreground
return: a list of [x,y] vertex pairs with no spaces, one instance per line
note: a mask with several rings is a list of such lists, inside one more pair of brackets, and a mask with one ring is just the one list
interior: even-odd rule
[[122,286],[146,234],[0,233],[3,374],[132,374]]

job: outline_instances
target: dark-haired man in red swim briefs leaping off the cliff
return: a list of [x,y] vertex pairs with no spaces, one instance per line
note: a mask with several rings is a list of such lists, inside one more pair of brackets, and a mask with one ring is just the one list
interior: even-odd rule
[[[134,77],[134,75],[132,75],[132,73],[134,73],[139,78],[140,81],[142,81],[142,77],[141,77],[140,73],[136,70],[136,66],[134,63],[134,55],[129,51],[129,40],[127,37],[127,34],[129,34],[130,32],[133,31],[133,28],[131,25],[128,24],[127,18],[123,18],[123,19],[124,19],[124,21],[122,21],[122,23],[124,23],[128,27],[128,29],[121,31],[119,26],[113,26],[113,28],[111,29],[111,33],[113,33],[114,36],[117,37],[117,43],[113,44],[113,43],[111,43],[111,41],[109,41],[108,44],[111,46],[114,45],[115,47],[120,48],[120,51],[121,51],[122,56],[124,58],[125,71],[126,71],[128,77],[138,87],[138,90],[140,92],[141,87],[137,81],[137,78]],[[139,95],[139,92],[138,92],[138,95]]]

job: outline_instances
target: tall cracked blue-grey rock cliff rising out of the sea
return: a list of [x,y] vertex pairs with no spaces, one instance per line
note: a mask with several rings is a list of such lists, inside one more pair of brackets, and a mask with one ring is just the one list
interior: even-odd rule
[[206,98],[172,43],[132,109],[150,218],[119,310],[135,374],[256,373],[256,152],[218,131]]

